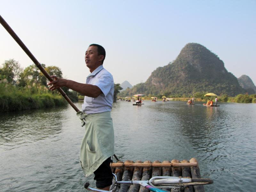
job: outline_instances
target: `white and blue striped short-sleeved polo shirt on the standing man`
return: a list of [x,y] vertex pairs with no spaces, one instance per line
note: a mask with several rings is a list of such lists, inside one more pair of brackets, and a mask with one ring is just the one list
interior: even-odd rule
[[102,93],[96,97],[84,97],[83,112],[87,114],[111,111],[114,97],[113,76],[100,65],[86,78],[86,84],[96,85]]

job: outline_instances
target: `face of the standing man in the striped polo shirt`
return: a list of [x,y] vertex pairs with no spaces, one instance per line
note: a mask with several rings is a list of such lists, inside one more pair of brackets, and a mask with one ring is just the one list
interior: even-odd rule
[[98,55],[98,49],[96,46],[88,47],[87,51],[85,52],[85,63],[88,68],[97,68],[101,65],[101,60],[103,55]]

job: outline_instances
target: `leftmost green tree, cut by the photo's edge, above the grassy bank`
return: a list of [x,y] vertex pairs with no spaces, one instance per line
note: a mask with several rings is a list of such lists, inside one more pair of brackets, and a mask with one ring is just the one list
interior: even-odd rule
[[20,76],[21,68],[18,61],[6,60],[0,68],[0,80],[7,79],[8,83],[15,84]]

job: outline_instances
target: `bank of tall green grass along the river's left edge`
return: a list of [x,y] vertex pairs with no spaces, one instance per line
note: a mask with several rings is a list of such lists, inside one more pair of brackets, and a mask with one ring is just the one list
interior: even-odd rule
[[49,108],[66,105],[66,100],[46,87],[19,88],[0,84],[0,112],[24,109]]

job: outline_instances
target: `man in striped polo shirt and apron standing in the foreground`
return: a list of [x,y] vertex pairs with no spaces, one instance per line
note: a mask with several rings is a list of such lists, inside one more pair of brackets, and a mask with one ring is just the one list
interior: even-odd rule
[[[85,52],[85,63],[91,74],[86,84],[52,76],[48,83],[50,90],[68,87],[84,97],[82,105],[85,117],[85,134],[80,148],[80,163],[85,176],[94,173],[96,187],[109,190],[113,175],[110,168],[110,156],[114,155],[114,130],[110,110],[113,104],[114,80],[103,68],[105,49],[91,44]],[[80,112],[81,113],[81,112]]]

